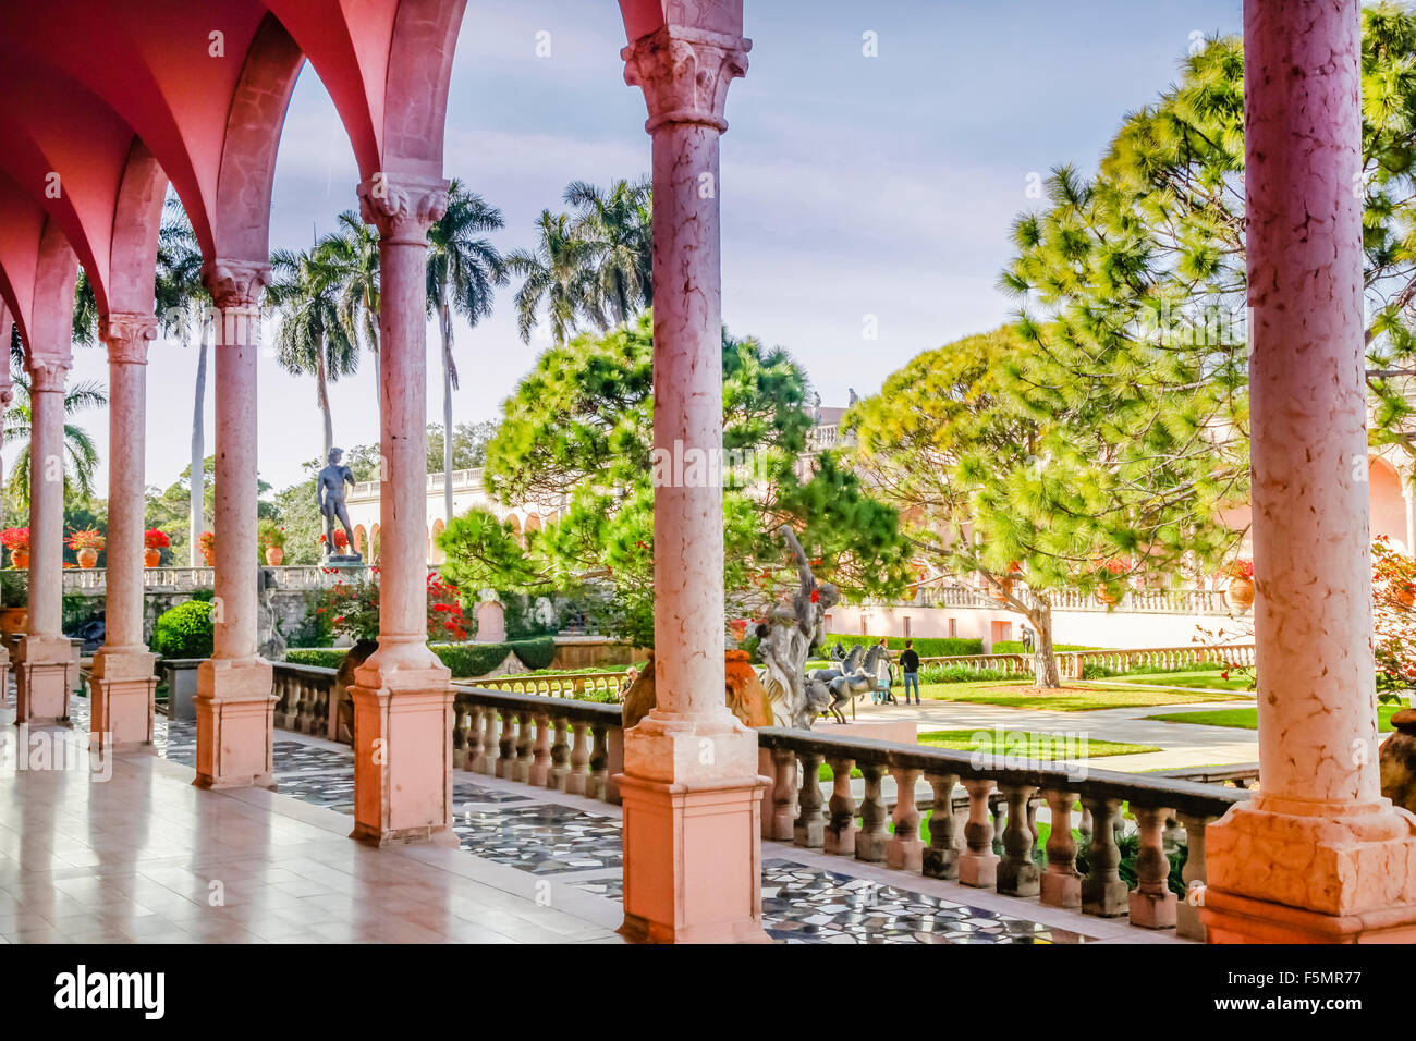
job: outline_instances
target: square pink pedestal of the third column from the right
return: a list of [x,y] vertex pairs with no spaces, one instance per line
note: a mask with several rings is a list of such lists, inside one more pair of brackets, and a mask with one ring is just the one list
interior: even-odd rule
[[452,671],[419,644],[354,671],[354,830],[371,846],[456,846]]

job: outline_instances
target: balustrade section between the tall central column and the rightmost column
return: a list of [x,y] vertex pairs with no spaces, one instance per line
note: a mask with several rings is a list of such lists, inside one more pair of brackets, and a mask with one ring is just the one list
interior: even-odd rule
[[[765,838],[1010,897],[1035,897],[1087,915],[1129,916],[1148,929],[1177,926],[1194,939],[1204,936],[1197,905],[1205,881],[1205,826],[1249,796],[1172,778],[1018,763],[1007,755],[837,738],[828,731],[763,728],[758,742],[759,770],[772,779],[763,797]],[[826,800],[818,779],[823,763],[833,772]],[[860,802],[851,792],[852,769],[864,778]],[[882,795],[885,775],[895,780],[893,806]],[[915,795],[920,780],[933,792],[927,843],[919,827],[925,804]],[[1044,804],[1052,826],[1039,858],[1037,812]],[[1086,874],[1078,870],[1072,827],[1079,806],[1078,830],[1090,837]],[[1140,837],[1134,889],[1119,874],[1116,831],[1123,810]],[[1168,851],[1181,834],[1188,848],[1182,878],[1197,894],[1191,901],[1178,899],[1167,885]]]

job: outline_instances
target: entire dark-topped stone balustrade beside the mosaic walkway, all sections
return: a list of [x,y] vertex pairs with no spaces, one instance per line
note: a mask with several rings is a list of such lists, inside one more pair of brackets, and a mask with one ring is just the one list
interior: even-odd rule
[[[331,701],[329,669],[276,664],[276,725],[320,732]],[[573,701],[483,687],[455,687],[453,762],[456,766],[554,792],[617,803],[615,775],[623,765],[619,705]],[[1168,928],[1204,938],[1198,906],[1172,899],[1168,853],[1187,847],[1182,878],[1205,882],[1205,826],[1249,793],[1236,787],[1146,773],[1027,763],[1012,756],[976,755],[827,732],[758,731],[763,793],[763,838],[820,848],[827,854],[884,864],[909,875],[959,881],[1000,894],[1038,898],[1049,906],[1099,918],[1130,918],[1133,925]],[[834,780],[818,780],[830,765]],[[851,770],[864,775],[857,802]],[[895,780],[889,803],[882,779]],[[803,779],[806,783],[803,783]],[[920,782],[932,796],[916,797]],[[1078,870],[1076,827],[1090,841],[1089,870]],[[1035,857],[1038,810],[1046,806],[1052,829],[1042,864]],[[940,813],[940,807],[947,807]],[[927,844],[920,810],[933,809]],[[1123,813],[1140,836],[1137,885],[1120,878],[1116,834]],[[891,826],[893,824],[893,833]],[[1198,899],[1195,901],[1198,904]]]

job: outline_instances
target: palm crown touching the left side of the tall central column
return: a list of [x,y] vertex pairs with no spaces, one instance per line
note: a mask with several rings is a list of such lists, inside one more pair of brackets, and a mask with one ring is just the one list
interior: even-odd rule
[[623,324],[654,302],[650,180],[619,180],[609,191],[572,181],[565,201],[576,208],[571,228],[585,244],[586,282],[598,322],[602,329]]

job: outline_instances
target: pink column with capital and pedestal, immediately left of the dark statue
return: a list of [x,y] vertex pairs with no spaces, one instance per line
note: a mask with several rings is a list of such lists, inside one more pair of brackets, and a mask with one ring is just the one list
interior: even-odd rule
[[197,786],[273,787],[270,663],[256,653],[256,360],[261,290],[270,268],[202,269],[217,306],[217,595],[214,650],[197,671]]

